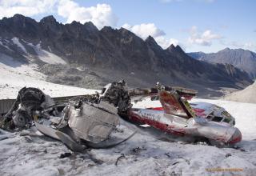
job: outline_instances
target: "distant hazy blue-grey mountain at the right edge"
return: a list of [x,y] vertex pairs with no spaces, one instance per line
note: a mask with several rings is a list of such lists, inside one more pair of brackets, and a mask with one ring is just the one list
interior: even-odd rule
[[195,52],[188,53],[188,55],[201,61],[232,64],[246,71],[250,78],[256,78],[256,53],[250,50],[226,48],[217,53],[205,54],[203,52]]

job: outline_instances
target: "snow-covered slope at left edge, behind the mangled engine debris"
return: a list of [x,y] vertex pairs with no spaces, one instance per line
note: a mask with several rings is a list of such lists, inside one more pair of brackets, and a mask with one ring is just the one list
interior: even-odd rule
[[52,97],[78,94],[94,94],[73,86],[62,86],[46,82],[46,76],[36,71],[37,65],[23,65],[5,54],[0,54],[0,99],[16,98],[18,90],[24,86],[38,87]]

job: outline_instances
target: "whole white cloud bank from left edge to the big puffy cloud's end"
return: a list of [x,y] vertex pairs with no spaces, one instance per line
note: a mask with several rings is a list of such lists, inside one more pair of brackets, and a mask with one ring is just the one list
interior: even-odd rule
[[58,12],[66,22],[93,22],[101,29],[103,26],[116,26],[118,18],[108,4],[97,6],[79,6],[72,0],[0,0],[0,18],[12,17],[14,14],[34,16]]

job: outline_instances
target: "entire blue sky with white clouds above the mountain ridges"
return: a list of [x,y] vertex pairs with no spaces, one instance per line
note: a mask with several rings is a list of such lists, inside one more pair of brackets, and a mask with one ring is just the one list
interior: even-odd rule
[[186,52],[210,53],[256,51],[255,7],[254,0],[0,0],[0,18],[20,13],[36,20],[54,14],[62,23],[91,20],[99,29],[123,26],[143,39],[150,34],[163,48],[174,43]]

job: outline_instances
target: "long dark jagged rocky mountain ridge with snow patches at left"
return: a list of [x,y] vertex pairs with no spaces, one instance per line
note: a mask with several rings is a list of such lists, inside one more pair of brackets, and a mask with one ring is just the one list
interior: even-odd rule
[[[15,14],[0,20],[0,62],[36,63],[50,82],[98,89],[124,78],[129,86],[188,86],[216,96],[222,87],[242,89],[252,81],[229,64],[190,58],[180,46],[166,50],[154,38],[92,22],[62,24],[53,16],[36,22]],[[2,59],[2,60],[1,60]]]

